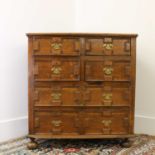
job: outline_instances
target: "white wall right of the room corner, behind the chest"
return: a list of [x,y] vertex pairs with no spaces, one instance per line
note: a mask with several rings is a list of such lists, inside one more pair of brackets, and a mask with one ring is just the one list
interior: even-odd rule
[[76,31],[138,33],[136,133],[155,135],[155,1],[77,0]]

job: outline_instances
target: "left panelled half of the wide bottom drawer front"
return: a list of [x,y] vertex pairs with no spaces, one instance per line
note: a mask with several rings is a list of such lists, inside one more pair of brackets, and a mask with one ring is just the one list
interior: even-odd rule
[[74,134],[76,133],[75,122],[76,113],[63,112],[61,115],[54,115],[54,112],[35,112],[35,117],[39,118],[40,126],[35,128],[35,133],[41,134]]

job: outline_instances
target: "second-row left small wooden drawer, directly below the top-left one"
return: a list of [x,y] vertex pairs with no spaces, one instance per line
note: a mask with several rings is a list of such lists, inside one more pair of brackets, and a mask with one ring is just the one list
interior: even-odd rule
[[80,61],[78,59],[36,59],[34,64],[36,81],[79,81]]

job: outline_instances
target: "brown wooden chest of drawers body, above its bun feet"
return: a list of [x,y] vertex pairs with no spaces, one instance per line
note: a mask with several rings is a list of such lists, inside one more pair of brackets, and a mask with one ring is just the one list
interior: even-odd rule
[[136,34],[27,36],[30,137],[133,134]]

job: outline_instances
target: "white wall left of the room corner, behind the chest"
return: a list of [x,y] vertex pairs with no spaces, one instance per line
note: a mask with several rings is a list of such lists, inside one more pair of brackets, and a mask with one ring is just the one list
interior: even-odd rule
[[27,32],[74,31],[72,0],[0,1],[0,141],[27,134]]

